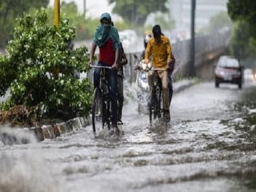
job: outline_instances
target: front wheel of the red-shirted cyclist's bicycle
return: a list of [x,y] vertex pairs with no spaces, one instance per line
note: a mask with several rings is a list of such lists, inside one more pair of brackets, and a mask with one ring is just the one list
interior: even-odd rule
[[94,100],[92,103],[92,131],[96,133],[104,127],[104,108],[102,104],[102,94],[98,88],[94,90]]

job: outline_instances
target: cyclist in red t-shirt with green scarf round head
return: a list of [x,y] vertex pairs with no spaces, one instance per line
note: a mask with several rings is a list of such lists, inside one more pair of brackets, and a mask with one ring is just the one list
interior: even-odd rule
[[[100,17],[100,26],[96,28],[92,49],[90,51],[89,64],[93,65],[93,57],[98,46],[100,55],[98,66],[112,66],[113,69],[106,69],[107,82],[110,87],[110,102],[111,102],[111,125],[112,128],[119,133],[117,127],[117,69],[119,62],[119,33],[117,28],[111,26],[111,16],[108,13],[103,13]],[[94,70],[94,88],[99,86],[100,69]]]

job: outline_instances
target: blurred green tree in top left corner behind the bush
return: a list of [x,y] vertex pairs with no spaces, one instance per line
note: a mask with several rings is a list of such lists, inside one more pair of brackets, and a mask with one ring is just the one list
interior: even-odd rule
[[31,7],[46,7],[49,0],[5,0],[0,1],[0,46],[4,46],[13,34],[15,18]]

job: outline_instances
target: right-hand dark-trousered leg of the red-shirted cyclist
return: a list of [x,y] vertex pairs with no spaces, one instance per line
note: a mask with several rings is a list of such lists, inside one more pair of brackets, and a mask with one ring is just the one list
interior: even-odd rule
[[113,127],[117,127],[117,71],[108,69],[108,86],[110,88],[111,102],[111,122]]

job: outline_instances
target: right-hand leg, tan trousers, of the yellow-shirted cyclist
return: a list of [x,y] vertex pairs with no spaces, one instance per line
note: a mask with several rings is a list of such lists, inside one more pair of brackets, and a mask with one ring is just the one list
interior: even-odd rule
[[162,82],[164,118],[166,120],[169,120],[170,119],[170,111],[169,111],[169,92],[168,92],[168,72],[167,71],[158,71],[158,75]]

